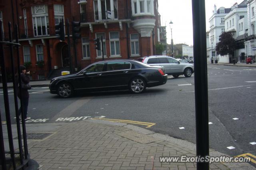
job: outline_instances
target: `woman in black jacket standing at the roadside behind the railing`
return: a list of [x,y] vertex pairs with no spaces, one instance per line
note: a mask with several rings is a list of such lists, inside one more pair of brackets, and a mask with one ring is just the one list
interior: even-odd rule
[[[24,83],[24,84],[28,84],[30,82],[30,78],[29,78],[29,72],[26,72],[26,67],[21,65],[20,66],[20,76],[21,76],[21,81]],[[17,82],[17,85],[19,83],[19,80],[18,80],[18,74],[16,74],[16,82]],[[17,86],[18,87],[18,86]],[[23,113],[24,113],[24,118],[25,120],[28,120],[28,119],[31,119],[31,117],[27,117],[27,114],[28,114],[28,99],[29,99],[29,94],[28,94],[28,90],[27,89],[22,89],[21,90],[22,92],[22,106],[23,106]],[[20,88],[18,87],[18,98],[20,99]],[[19,109],[19,115],[21,114],[21,107]],[[20,116],[20,120],[21,120],[21,116]]]

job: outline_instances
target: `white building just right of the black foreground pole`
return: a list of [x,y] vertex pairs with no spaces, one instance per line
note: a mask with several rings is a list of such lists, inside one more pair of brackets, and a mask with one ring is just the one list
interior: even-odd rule
[[214,60],[217,59],[215,52],[216,43],[219,42],[219,36],[221,35],[221,33],[225,31],[224,18],[230,11],[231,8],[224,7],[220,7],[217,10],[216,5],[214,5],[214,11],[212,11],[213,14],[209,19],[210,30],[209,43],[207,46],[208,62],[211,61],[211,58],[213,58]]

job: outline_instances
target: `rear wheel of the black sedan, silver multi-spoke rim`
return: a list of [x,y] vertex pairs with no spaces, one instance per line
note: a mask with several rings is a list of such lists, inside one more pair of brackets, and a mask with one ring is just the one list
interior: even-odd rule
[[144,92],[146,90],[146,81],[139,77],[133,78],[129,83],[129,90],[135,94]]

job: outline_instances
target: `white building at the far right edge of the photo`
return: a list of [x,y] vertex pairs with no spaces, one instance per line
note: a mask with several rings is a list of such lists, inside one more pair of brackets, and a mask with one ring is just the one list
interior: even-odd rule
[[256,46],[256,36],[255,36],[255,25],[256,25],[256,0],[247,0],[247,27],[248,27],[248,37],[245,46],[245,55],[250,57],[255,55],[255,51],[252,50],[252,47]]

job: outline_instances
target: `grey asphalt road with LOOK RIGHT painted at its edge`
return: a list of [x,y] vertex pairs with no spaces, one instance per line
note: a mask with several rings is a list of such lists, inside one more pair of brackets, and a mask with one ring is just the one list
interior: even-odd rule
[[[256,68],[252,67],[208,64],[210,148],[231,156],[256,155],[256,145],[250,144],[256,142],[255,74]],[[10,89],[10,110],[15,123],[12,93]],[[3,101],[2,91],[0,101]],[[90,118],[140,121],[156,123],[147,128],[151,131],[196,143],[194,106],[194,74],[190,78],[170,78],[165,85],[136,95],[119,91],[62,99],[50,94],[48,88],[38,87],[30,90],[28,116],[32,119],[27,123],[63,123]],[[4,121],[3,102],[0,102],[0,111]],[[235,149],[228,149],[230,146]]]

